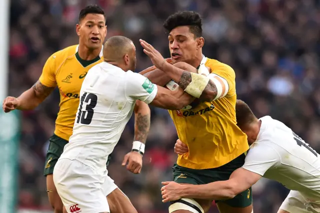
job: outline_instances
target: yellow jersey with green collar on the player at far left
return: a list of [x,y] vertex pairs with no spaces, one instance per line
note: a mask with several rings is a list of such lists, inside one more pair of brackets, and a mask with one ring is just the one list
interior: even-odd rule
[[81,59],[77,50],[78,45],[73,45],[53,53],[45,62],[39,78],[43,85],[59,88],[60,103],[54,133],[65,140],[69,140],[72,134],[82,81],[87,71],[102,61],[102,49],[92,60]]

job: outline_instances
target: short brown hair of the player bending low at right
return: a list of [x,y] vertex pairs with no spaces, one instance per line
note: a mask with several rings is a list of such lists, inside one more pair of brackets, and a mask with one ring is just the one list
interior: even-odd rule
[[235,117],[236,124],[240,129],[245,129],[248,124],[256,119],[250,107],[243,100],[236,100]]

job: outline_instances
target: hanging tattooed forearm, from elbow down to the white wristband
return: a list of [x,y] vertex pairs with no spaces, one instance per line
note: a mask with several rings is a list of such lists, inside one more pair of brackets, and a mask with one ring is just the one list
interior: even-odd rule
[[140,101],[134,112],[134,140],[145,143],[150,128],[150,108]]

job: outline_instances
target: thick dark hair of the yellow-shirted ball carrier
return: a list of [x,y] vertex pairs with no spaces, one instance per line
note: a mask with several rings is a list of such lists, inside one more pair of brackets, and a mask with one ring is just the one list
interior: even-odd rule
[[189,26],[190,32],[195,37],[202,36],[202,19],[199,13],[194,11],[182,11],[176,12],[170,15],[163,23],[163,27],[169,33],[172,29],[177,26]]

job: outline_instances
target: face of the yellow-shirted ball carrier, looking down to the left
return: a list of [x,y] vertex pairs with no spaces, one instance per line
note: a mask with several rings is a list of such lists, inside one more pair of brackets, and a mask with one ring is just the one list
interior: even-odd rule
[[169,49],[173,62],[190,62],[196,57],[199,49],[199,38],[189,31],[188,26],[178,26],[168,36]]

